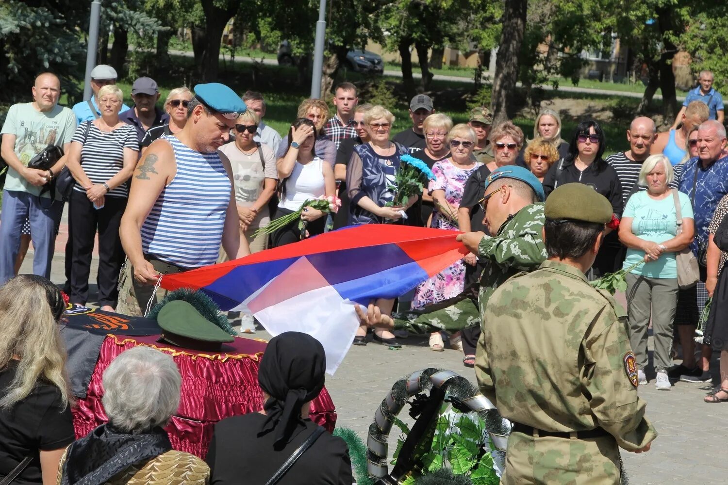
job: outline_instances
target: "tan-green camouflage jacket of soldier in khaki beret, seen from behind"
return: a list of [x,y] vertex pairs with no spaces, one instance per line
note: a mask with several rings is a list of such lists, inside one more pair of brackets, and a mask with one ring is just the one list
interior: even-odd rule
[[483,320],[475,374],[503,417],[556,432],[601,427],[629,451],[657,436],[629,365],[627,318],[577,268],[548,260],[510,279]]

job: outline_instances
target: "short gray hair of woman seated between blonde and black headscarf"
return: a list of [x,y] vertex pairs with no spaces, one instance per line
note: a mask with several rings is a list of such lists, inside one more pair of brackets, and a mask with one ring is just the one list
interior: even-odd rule
[[124,433],[164,426],[180,404],[182,377],[172,357],[150,347],[126,350],[103,372],[103,408]]

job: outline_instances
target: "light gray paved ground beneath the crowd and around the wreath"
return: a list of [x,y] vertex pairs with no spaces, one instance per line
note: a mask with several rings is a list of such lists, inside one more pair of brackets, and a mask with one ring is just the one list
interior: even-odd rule
[[[26,258],[22,272],[32,268],[32,251]],[[95,281],[92,263],[91,281]],[[63,250],[57,252],[52,270],[52,281],[63,284]],[[91,291],[95,291],[92,285]],[[257,338],[268,339],[269,334],[258,332]],[[405,374],[427,367],[452,369],[475,383],[472,369],[462,365],[462,355],[455,350],[432,352],[424,337],[403,340],[400,350],[389,350],[371,342],[366,347],[352,346],[334,376],[327,376],[326,386],[339,413],[339,426],[355,430],[364,440],[374,411],[386,396],[392,384]],[[713,363],[717,378],[718,363]],[[716,381],[717,382],[717,381]],[[678,382],[672,390],[658,391],[654,381],[640,388],[647,401],[647,416],[654,422],[660,436],[652,450],[644,454],[622,452],[622,459],[630,476],[630,484],[724,484],[725,447],[728,444],[728,404],[705,404],[705,390],[700,385]],[[407,413],[400,417],[408,422]],[[390,454],[397,442],[397,430],[390,436]]]

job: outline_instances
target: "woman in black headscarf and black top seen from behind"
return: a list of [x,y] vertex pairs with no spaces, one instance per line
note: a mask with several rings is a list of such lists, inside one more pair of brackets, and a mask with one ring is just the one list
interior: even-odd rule
[[[323,346],[314,337],[301,332],[273,337],[258,370],[263,409],[215,425],[206,458],[210,484],[240,484],[242,477],[251,485],[352,484],[347,444],[321,433],[308,417],[325,369]],[[306,451],[279,481],[270,481],[303,444],[309,444]]]

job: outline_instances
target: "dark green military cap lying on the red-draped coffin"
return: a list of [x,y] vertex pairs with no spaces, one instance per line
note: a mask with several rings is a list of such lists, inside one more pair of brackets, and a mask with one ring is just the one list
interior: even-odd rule
[[235,340],[183,300],[174,300],[162,307],[157,324],[162,328],[162,338],[179,347],[212,350],[220,348],[223,342]]

